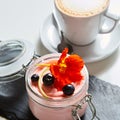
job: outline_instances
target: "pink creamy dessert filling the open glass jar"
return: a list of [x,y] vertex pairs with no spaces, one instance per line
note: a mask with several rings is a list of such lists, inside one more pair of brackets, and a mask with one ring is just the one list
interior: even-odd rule
[[[39,120],[73,120],[72,110],[75,109],[74,105],[78,105],[88,91],[89,76],[85,66],[82,71],[80,71],[84,79],[80,84],[73,83],[75,91],[74,94],[69,97],[64,96],[62,91],[57,91],[55,88],[47,89],[45,87],[45,93],[51,96],[50,98],[45,98],[42,96],[38,86],[32,84],[31,76],[34,73],[39,74],[42,79],[42,75],[50,72],[46,67],[38,70],[37,64],[58,60],[60,55],[61,54],[54,53],[38,58],[30,65],[26,72],[26,89],[29,96],[29,107],[33,115]],[[87,103],[84,103],[82,109],[79,109],[78,114],[80,117],[84,115],[86,107]]]

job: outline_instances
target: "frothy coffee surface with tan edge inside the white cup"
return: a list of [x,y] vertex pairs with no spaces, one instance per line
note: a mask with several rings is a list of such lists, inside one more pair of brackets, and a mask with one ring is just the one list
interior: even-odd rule
[[55,0],[56,7],[64,14],[88,17],[104,11],[109,0]]

